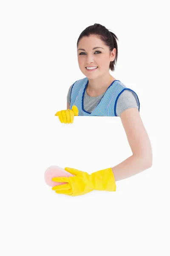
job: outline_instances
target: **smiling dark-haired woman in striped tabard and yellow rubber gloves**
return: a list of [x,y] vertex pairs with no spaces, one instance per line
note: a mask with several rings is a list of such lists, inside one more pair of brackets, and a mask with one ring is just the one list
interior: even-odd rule
[[[52,189],[66,195],[84,195],[92,190],[116,191],[116,181],[136,175],[152,166],[152,148],[139,114],[137,94],[110,75],[114,71],[118,49],[116,35],[105,26],[87,27],[77,41],[79,68],[85,75],[71,85],[65,111],[56,116],[72,123],[76,116],[120,116],[133,155],[114,166],[88,175],[65,168],[74,177],[56,177],[53,181],[67,182]],[[72,109],[71,109],[72,108]]]

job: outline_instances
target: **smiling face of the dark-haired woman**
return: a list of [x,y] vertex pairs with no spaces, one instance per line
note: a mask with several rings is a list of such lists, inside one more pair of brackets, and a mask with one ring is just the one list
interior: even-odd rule
[[[96,48],[94,47],[102,47]],[[109,72],[110,62],[115,59],[116,48],[110,54],[109,47],[95,35],[81,38],[77,48],[79,68],[86,77],[97,77]],[[88,71],[86,67],[98,67],[94,71]]]

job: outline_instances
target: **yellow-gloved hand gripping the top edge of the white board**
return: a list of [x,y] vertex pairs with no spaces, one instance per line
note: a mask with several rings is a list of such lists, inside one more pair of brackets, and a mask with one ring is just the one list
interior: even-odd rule
[[70,122],[73,123],[74,116],[78,116],[78,114],[79,114],[78,108],[74,105],[71,110],[68,108],[68,110],[58,111],[55,114],[55,116],[59,117],[60,122],[69,124]]

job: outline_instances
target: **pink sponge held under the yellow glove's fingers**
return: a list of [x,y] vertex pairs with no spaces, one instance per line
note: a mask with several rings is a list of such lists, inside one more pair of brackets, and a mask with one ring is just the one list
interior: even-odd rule
[[44,179],[48,186],[57,186],[66,184],[66,182],[55,182],[52,180],[54,177],[71,177],[74,176],[70,172],[65,171],[65,169],[62,169],[59,166],[50,166],[48,169],[46,169],[44,173]]

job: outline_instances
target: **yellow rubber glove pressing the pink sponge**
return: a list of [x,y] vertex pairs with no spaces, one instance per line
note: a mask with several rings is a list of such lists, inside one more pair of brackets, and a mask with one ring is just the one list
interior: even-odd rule
[[74,168],[65,167],[65,171],[75,175],[73,177],[54,177],[55,182],[67,182],[52,187],[57,194],[84,195],[92,190],[116,191],[116,182],[111,168],[103,169],[89,175]]

